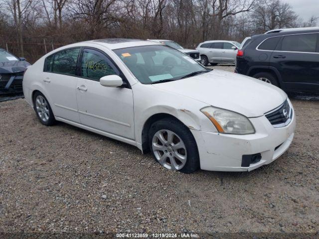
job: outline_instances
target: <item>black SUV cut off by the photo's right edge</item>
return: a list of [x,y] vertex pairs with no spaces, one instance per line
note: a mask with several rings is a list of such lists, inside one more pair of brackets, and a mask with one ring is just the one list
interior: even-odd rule
[[235,72],[286,92],[319,93],[319,27],[252,36],[237,52]]

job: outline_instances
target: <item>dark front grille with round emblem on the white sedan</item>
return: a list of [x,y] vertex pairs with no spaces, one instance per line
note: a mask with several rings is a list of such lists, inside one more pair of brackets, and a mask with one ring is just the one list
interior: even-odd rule
[[265,116],[275,127],[283,127],[291,121],[293,117],[293,110],[286,100],[284,104],[282,104],[275,110],[266,113]]

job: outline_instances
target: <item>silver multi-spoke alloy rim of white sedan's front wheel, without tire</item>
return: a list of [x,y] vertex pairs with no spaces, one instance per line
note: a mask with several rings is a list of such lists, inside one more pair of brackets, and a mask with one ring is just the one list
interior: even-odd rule
[[182,169],[187,160],[186,146],[173,131],[162,129],[152,139],[152,149],[161,165],[170,170]]

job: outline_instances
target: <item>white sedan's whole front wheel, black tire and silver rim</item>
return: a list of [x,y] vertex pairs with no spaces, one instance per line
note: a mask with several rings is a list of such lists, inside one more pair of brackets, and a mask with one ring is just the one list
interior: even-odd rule
[[[170,139],[169,135],[172,135]],[[192,173],[199,168],[195,138],[189,128],[176,119],[154,122],[149,130],[149,146],[155,160],[167,169]]]

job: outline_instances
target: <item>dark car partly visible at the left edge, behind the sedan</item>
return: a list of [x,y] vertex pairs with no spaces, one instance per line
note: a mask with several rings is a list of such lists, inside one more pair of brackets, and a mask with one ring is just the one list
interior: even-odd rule
[[22,93],[23,73],[30,63],[0,48],[0,94]]

